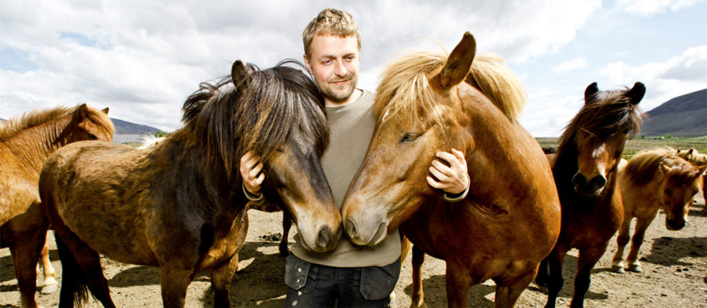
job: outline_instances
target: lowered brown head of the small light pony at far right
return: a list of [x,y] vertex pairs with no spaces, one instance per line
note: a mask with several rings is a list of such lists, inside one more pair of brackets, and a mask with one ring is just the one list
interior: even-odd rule
[[[674,156],[673,156],[674,157]],[[695,194],[702,185],[706,166],[692,166],[683,159],[667,159],[660,163],[662,182],[658,189],[660,207],[665,211],[665,228],[680,230],[687,222],[687,213]]]

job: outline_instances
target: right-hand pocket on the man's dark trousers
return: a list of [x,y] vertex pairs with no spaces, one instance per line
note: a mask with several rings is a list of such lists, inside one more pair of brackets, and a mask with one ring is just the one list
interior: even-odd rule
[[399,276],[400,259],[382,267],[364,267],[361,269],[361,295],[366,300],[383,300],[390,297]]

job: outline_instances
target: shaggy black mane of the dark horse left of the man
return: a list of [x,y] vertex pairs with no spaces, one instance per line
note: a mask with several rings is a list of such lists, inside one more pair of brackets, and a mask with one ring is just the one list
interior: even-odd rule
[[204,145],[204,158],[222,163],[228,175],[247,151],[268,161],[296,130],[311,138],[318,155],[327,146],[324,99],[308,75],[286,64],[304,68],[291,59],[265,70],[248,63],[239,85],[231,76],[201,82],[185,101],[182,122]]

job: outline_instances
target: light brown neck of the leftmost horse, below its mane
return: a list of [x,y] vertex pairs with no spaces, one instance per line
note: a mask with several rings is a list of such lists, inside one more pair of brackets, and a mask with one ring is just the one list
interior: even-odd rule
[[49,121],[21,131],[4,144],[25,166],[39,173],[47,157],[68,143],[62,132],[70,122],[71,116]]

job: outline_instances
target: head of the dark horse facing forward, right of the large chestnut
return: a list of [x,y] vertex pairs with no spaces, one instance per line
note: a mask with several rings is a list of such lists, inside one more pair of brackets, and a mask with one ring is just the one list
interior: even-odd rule
[[636,106],[644,94],[641,82],[621,91],[600,91],[594,82],[585,90],[585,105],[566,130],[566,134],[573,133],[576,145],[577,172],[572,185],[578,195],[598,197],[604,190],[608,173],[619,164],[626,138],[638,131],[641,118]]

